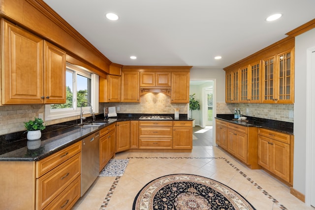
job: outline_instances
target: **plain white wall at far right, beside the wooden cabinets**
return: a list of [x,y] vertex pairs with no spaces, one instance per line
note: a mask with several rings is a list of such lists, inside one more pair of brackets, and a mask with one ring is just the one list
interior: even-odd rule
[[315,29],[295,38],[293,188],[306,194],[306,52],[315,47]]

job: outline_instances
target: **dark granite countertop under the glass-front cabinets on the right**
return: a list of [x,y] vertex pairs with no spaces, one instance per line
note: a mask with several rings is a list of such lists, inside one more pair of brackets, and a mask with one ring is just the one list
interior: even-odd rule
[[247,117],[248,121],[233,120],[234,118],[233,114],[218,114],[216,119],[228,121],[228,122],[243,125],[243,126],[261,127],[261,128],[266,128],[269,130],[274,130],[274,131],[293,135],[293,122],[268,120],[268,119],[256,118],[256,117],[251,117],[251,116],[245,116],[245,117]]

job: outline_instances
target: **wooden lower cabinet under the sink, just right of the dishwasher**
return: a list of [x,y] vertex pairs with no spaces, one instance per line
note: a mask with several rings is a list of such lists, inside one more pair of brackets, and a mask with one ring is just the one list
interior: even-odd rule
[[111,124],[99,132],[99,171],[115,155],[115,124]]

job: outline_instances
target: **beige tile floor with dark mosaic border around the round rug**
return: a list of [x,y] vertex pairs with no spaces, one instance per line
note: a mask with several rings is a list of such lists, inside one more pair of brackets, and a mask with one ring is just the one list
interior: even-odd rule
[[[98,177],[71,210],[131,210],[138,191],[148,182],[168,174],[196,174],[236,190],[257,210],[315,210],[290,194],[288,186],[264,172],[250,170],[211,145],[212,128],[194,135],[191,152],[126,151],[116,159],[129,159],[122,177]],[[211,135],[210,135],[211,133]],[[208,142],[207,142],[208,139]],[[199,141],[199,142],[198,142]]]

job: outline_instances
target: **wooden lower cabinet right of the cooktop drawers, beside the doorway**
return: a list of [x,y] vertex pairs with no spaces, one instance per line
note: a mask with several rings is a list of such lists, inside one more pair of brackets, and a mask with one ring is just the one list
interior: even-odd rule
[[192,121],[173,121],[173,149],[192,150]]

